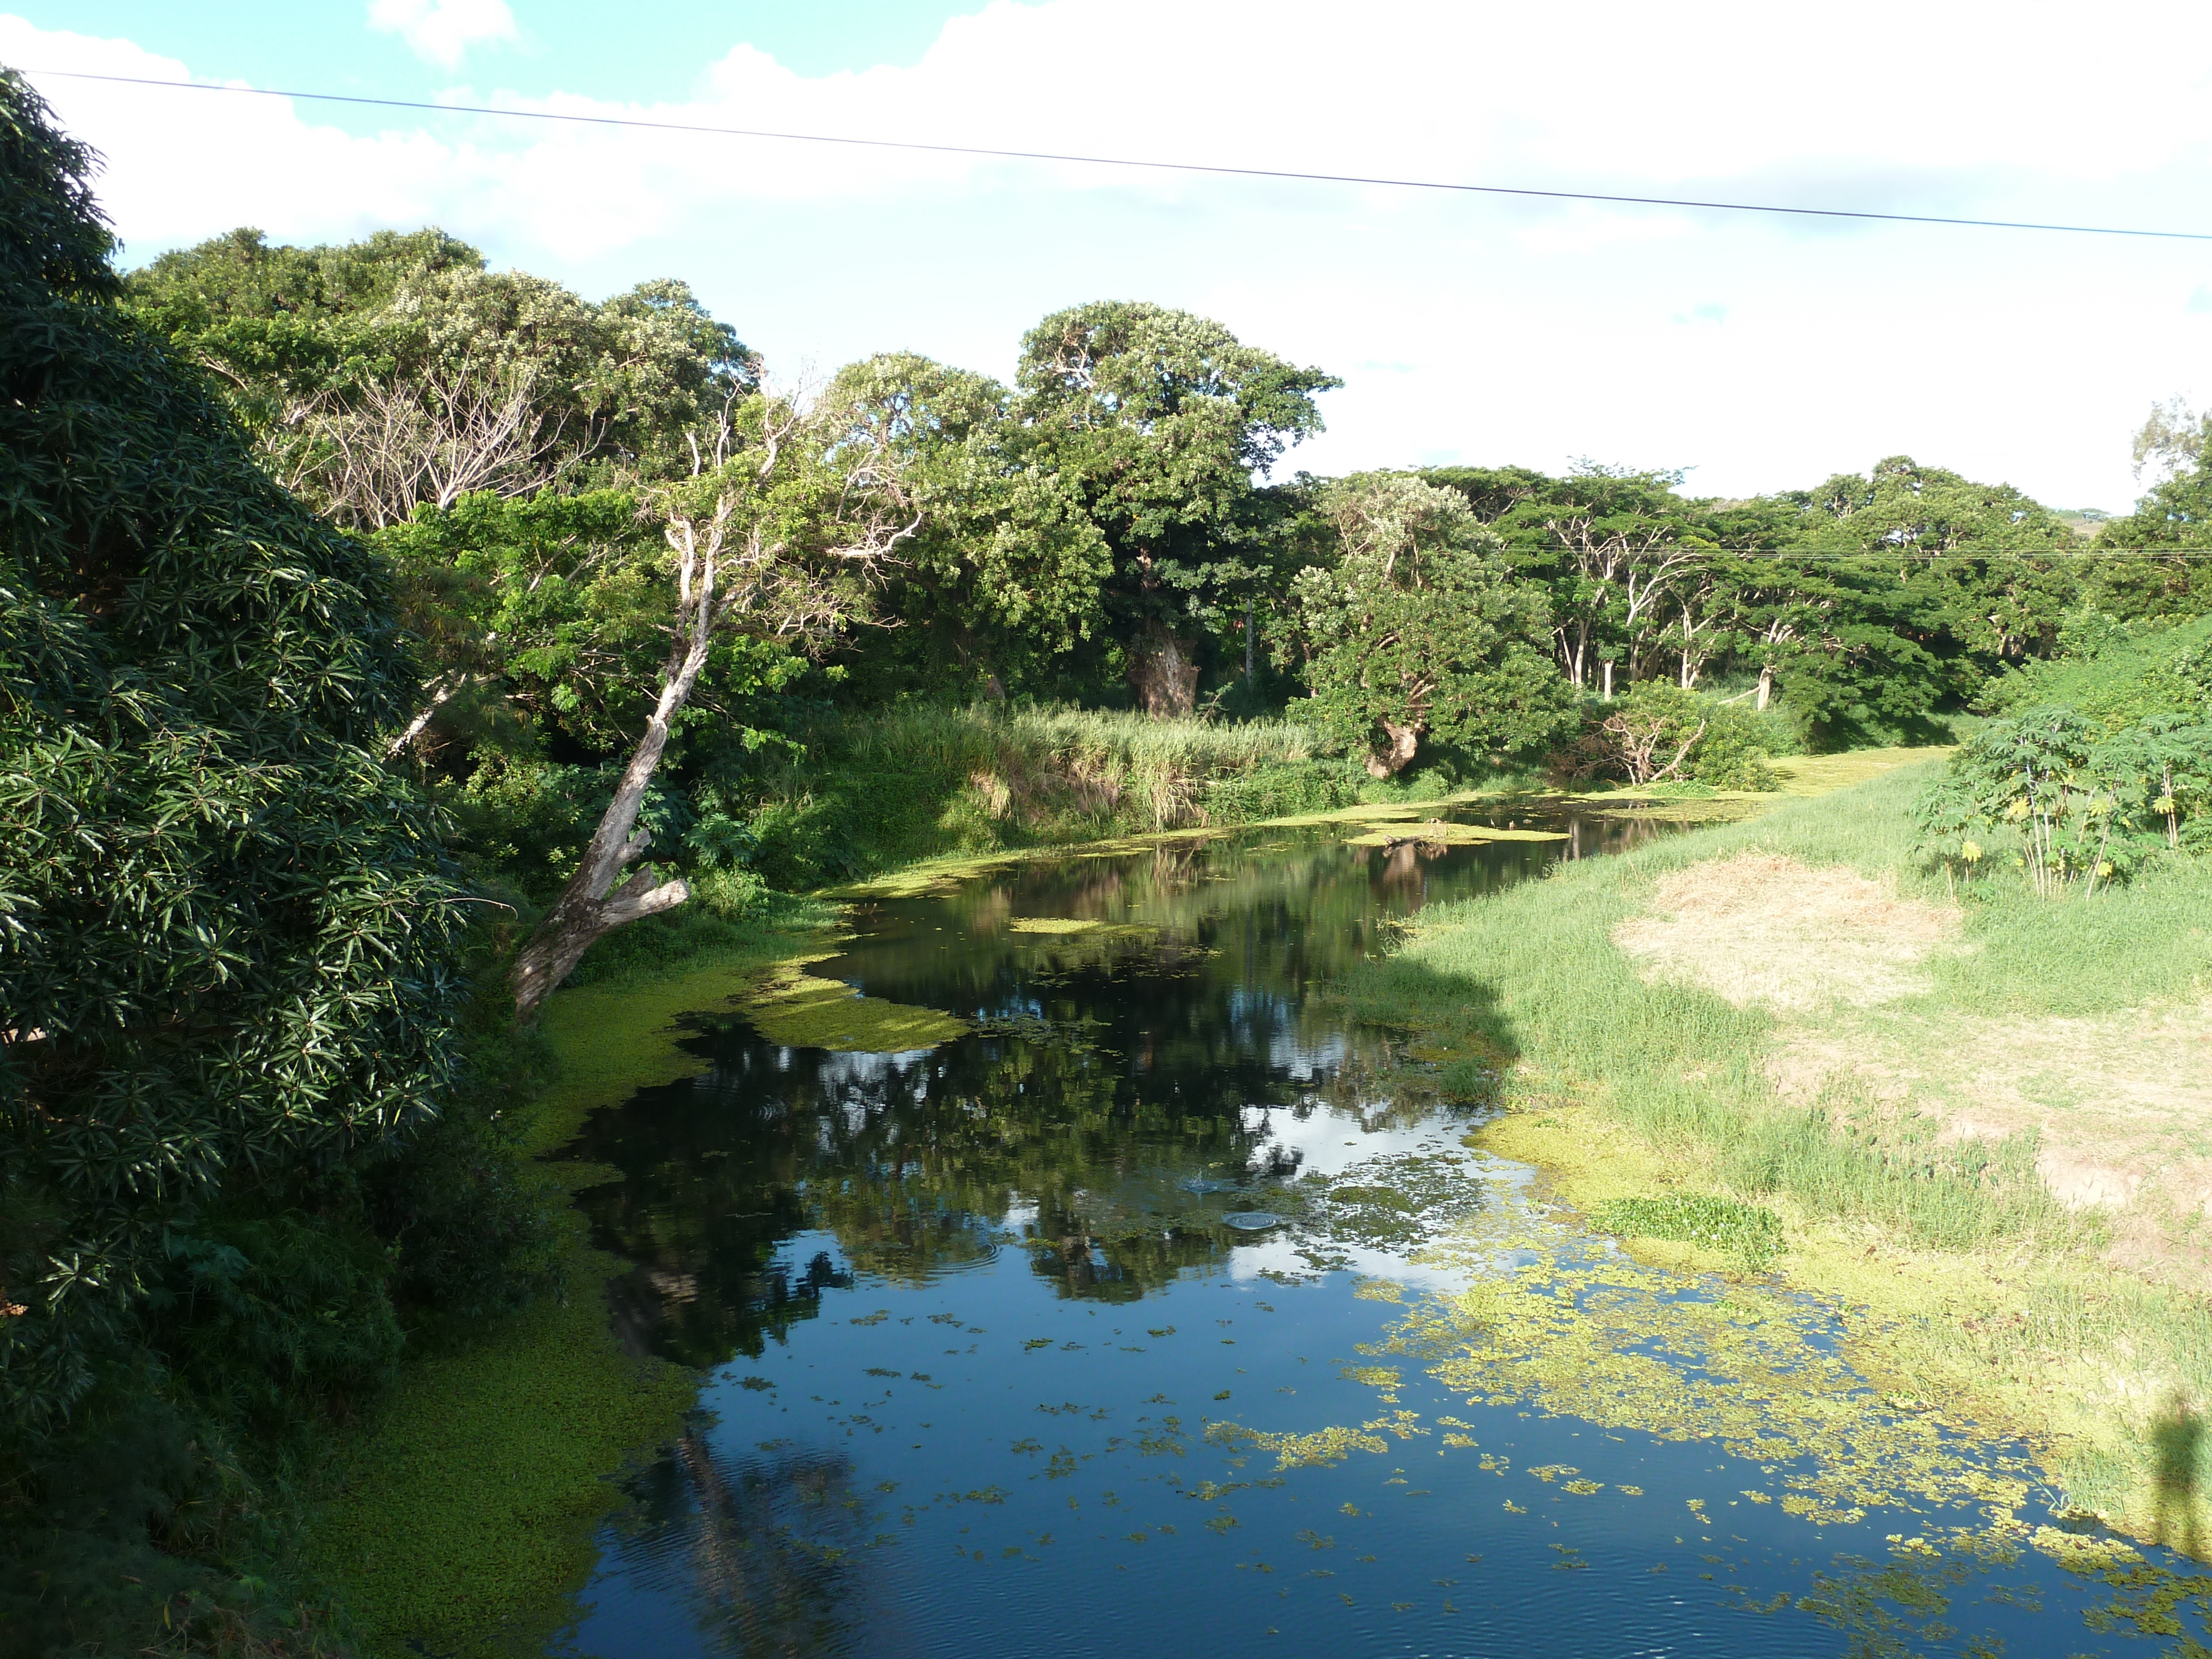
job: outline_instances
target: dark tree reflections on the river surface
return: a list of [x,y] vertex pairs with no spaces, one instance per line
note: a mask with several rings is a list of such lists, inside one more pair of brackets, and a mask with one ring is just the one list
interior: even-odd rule
[[[1221,1267],[1250,1243],[1223,1217],[1296,1208],[1310,1183],[1290,1183],[1323,1152],[1340,1168],[1396,1130],[1449,1130],[1400,1040],[1354,1029],[1316,987],[1425,902],[1648,834],[1588,821],[1571,845],[1354,849],[1263,832],[876,905],[812,971],[958,1013],[973,1035],[825,1053],[737,1015],[692,1020],[706,1071],[597,1113],[571,1148],[619,1172],[580,1199],[597,1243],[637,1263],[615,1285],[619,1329],[714,1369],[787,1343],[825,1292],[918,1290],[1006,1252],[1055,1303],[1106,1314]],[[1088,927],[1011,927],[1031,916]],[[916,1378],[900,1387],[936,1387]],[[697,1650],[825,1652],[860,1630],[880,1646],[883,1608],[863,1615],[880,1584],[858,1562],[896,1557],[854,1555],[876,1540],[874,1489],[856,1491],[843,1453],[701,1427],[635,1493],[624,1571],[688,1608]]]

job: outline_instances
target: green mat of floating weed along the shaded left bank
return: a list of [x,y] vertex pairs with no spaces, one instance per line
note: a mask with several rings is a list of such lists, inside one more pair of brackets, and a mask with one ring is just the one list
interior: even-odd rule
[[[597,1166],[544,1161],[584,1115],[699,1068],[677,1048],[677,1013],[732,998],[761,967],[810,945],[834,918],[776,902],[750,925],[690,918],[635,938],[546,1006],[551,1088],[529,1108],[538,1179],[573,1192]],[[624,1352],[606,1283],[628,1263],[593,1250],[562,1203],[557,1296],[422,1354],[378,1413],[334,1455],[307,1557],[347,1608],[358,1646],[409,1652],[535,1650],[566,1617],[564,1593],[593,1562],[593,1531],[619,1502],[615,1475],[672,1436],[697,1378]]]

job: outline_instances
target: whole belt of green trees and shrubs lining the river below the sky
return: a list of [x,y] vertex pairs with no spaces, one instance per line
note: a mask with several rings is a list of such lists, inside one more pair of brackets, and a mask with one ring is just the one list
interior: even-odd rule
[[323,1431],[575,1290],[546,998],[843,883],[1907,745],[1951,883],[2212,849],[2212,418],[2112,518],[1318,478],[1329,367],[1166,305],[805,383],[438,228],[122,270],[93,179],[0,73],[9,1652],[343,1650],[272,1566]]

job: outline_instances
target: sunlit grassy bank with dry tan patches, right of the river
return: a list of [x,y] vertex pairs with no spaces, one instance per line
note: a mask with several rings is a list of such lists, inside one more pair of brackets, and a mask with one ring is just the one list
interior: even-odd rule
[[[1778,1270],[1865,1310],[1854,1360],[1871,1380],[2028,1436],[2070,1502],[2203,1548],[2201,1210],[2157,1172],[2084,1188],[2097,1135],[2073,1130],[2143,1053],[2188,1075],[2197,1044],[2203,1064],[2212,867],[2093,900],[2011,880],[1955,900],[1911,849],[1929,770],[1425,914],[1347,995],[1418,1029],[1455,1091],[1495,1088],[1509,1110],[1484,1141],[1573,1206],[1778,1212]],[[1763,885],[1778,925],[1761,922]]]

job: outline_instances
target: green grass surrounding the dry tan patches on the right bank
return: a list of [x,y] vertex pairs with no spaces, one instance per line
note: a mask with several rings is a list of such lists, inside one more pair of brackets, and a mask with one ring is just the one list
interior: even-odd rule
[[[1378,1024],[1413,1026],[1455,1093],[1495,1093],[1509,1115],[1484,1146],[1542,1166],[1586,1212],[1686,1194],[1776,1212],[1790,1279],[1865,1310],[1851,1329],[1867,1376],[2031,1436],[2073,1502],[2152,1535],[2179,1513],[2170,1427],[2212,1402],[2201,1285],[2108,1259],[2115,1219],[2059,1201],[2037,1170],[2035,1133],[1960,1135],[1909,1093],[1882,1095],[1851,1073],[1787,1095],[1776,1057],[1792,1042],[1871,1018],[1843,987],[1823,995],[1814,982],[1787,1011],[1763,995],[1732,1002],[1615,942],[1621,929],[1668,925],[1663,883],[1677,880],[1679,902],[1736,858],[1840,869],[1882,902],[1944,905],[1940,883],[1918,874],[1907,816],[1927,774],[1896,768],[1750,823],[1425,911],[1347,995]],[[1936,1044],[1969,1020],[2095,1018],[2148,1033],[2212,989],[2212,869],[2201,863],[2095,900],[1984,883],[1962,909],[1955,945],[1924,949],[1918,978],[1882,987],[1871,1013],[1916,1018]],[[1820,953],[1818,940],[1756,949]],[[2181,1506],[2212,1537],[2212,1447],[2185,1475]]]

